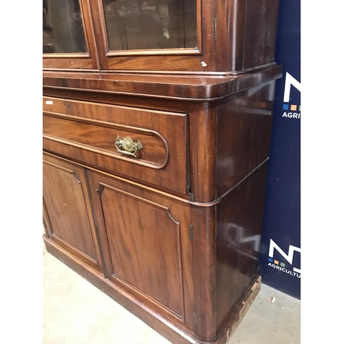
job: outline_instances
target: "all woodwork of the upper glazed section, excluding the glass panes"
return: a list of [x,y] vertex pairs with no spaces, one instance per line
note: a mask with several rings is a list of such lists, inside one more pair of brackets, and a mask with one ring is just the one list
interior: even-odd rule
[[89,57],[43,54],[44,68],[230,74],[274,62],[278,0],[197,0],[197,47],[119,51],[109,48],[103,1],[80,5]]

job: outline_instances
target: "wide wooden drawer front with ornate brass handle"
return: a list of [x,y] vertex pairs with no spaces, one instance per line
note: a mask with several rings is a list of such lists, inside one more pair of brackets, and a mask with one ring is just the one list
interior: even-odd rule
[[43,149],[186,194],[187,114],[43,97]]

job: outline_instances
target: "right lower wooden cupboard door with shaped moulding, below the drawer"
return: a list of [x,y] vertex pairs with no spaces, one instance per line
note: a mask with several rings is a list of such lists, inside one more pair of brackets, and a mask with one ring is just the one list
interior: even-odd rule
[[103,173],[87,175],[105,276],[194,332],[189,203]]

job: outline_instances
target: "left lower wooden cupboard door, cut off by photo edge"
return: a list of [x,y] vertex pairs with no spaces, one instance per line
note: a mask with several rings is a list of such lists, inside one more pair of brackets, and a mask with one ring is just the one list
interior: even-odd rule
[[100,269],[96,230],[82,167],[43,154],[43,215],[49,239]]

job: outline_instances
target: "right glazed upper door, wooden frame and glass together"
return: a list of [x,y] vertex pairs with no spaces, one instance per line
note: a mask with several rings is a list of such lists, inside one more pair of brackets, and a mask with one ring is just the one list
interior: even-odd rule
[[215,68],[213,1],[94,0],[90,6],[100,69]]

